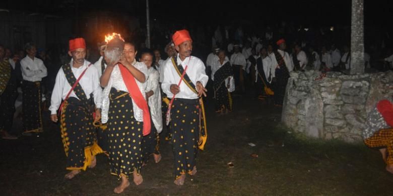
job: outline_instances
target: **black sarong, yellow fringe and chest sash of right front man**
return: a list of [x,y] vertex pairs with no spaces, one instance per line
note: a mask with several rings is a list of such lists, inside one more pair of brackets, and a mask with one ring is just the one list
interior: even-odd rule
[[[177,65],[172,57],[172,64],[179,74],[182,75],[184,69]],[[197,88],[192,83],[187,74],[183,77],[183,82],[198,94]],[[200,99],[178,99],[175,98],[171,108],[170,130],[172,133],[172,145],[174,155],[174,174],[176,179],[185,172],[190,173],[196,164],[198,148],[203,150],[207,140],[205,107]]]

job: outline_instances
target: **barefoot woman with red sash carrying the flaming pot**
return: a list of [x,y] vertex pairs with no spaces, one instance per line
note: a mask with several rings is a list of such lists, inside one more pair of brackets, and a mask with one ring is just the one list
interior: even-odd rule
[[122,51],[120,60],[109,59],[111,50],[107,47],[105,61],[108,67],[100,78],[104,87],[102,123],[108,125],[110,172],[121,178],[113,190],[115,193],[129,186],[128,175],[133,175],[136,185],[143,182],[142,137],[149,135],[151,130],[145,93],[147,67],[136,61],[138,51],[134,43],[124,43]]

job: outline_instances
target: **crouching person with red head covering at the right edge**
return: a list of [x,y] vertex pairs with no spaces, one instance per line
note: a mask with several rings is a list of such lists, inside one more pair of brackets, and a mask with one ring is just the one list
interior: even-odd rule
[[393,105],[381,100],[368,114],[363,130],[364,143],[378,148],[386,163],[386,170],[393,173]]

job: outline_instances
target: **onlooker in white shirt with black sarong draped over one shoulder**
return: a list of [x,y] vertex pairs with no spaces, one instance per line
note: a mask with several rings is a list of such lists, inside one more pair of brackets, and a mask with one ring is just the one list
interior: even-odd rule
[[229,113],[232,111],[232,97],[229,89],[234,86],[233,70],[228,57],[224,50],[218,52],[218,59],[214,65],[214,73],[212,73],[214,97],[216,99],[216,112]]

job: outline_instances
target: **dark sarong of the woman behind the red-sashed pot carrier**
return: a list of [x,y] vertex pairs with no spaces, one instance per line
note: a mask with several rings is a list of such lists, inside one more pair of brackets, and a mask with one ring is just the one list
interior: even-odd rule
[[[150,113],[151,114],[151,113]],[[150,155],[160,154],[159,151],[159,144],[160,144],[160,137],[157,133],[157,129],[154,126],[153,118],[151,119],[151,130],[150,134],[147,136],[143,136],[142,138],[142,154],[143,154],[143,162],[147,163],[149,161]]]

